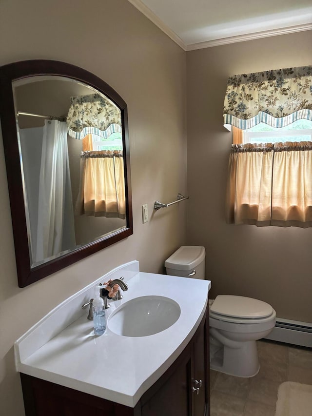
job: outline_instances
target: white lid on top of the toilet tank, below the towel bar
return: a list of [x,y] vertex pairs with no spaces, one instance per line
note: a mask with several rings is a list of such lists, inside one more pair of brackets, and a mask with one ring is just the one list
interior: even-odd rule
[[165,261],[167,269],[190,270],[205,260],[205,247],[181,246]]

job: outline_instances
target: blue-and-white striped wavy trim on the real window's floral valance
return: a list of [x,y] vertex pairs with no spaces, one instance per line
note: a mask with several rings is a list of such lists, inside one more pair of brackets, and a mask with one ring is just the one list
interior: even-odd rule
[[280,119],[277,119],[268,113],[264,113],[263,111],[259,111],[259,113],[252,119],[238,119],[237,117],[231,114],[224,114],[223,118],[223,125],[229,131],[231,131],[231,125],[241,130],[246,130],[260,123],[266,123],[272,127],[281,128],[292,124],[296,120],[308,119],[312,121],[312,110],[298,110]]

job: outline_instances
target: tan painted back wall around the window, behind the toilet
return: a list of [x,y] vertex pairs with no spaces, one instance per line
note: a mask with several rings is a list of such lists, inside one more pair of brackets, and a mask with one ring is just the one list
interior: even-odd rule
[[225,223],[232,135],[223,127],[227,78],[312,64],[312,31],[187,53],[188,243],[206,248],[212,297],[256,297],[278,317],[312,322],[312,229]]

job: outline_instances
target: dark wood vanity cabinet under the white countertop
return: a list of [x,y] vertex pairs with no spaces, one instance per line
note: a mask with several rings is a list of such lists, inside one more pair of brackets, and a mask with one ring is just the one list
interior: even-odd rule
[[135,408],[21,374],[26,416],[210,416],[208,334],[205,315],[184,351]]

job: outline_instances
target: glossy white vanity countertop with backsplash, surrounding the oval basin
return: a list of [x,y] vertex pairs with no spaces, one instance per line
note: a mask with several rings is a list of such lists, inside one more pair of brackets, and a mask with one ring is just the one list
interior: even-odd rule
[[[179,304],[176,323],[148,337],[123,337],[108,327],[102,336],[95,336],[93,321],[87,320],[88,308],[81,311],[79,306],[93,297],[93,286],[99,281],[122,275],[129,289],[122,292],[122,300],[110,301],[106,319],[130,299],[158,295]],[[120,266],[60,304],[16,341],[17,370],[134,407],[195,334],[210,286],[209,280],[139,272],[138,262]]]

